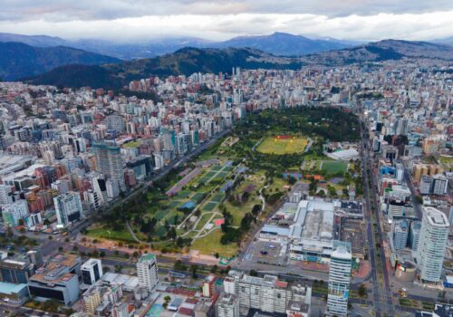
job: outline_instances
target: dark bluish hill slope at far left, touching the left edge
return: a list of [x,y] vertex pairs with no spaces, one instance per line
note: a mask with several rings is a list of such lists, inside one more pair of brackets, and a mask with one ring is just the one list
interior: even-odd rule
[[0,43],[0,78],[14,81],[68,64],[103,64],[120,60],[70,47],[34,47],[24,43]]

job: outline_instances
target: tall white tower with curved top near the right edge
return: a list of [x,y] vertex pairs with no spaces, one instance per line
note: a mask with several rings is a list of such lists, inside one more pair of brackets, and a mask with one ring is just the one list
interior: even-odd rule
[[448,218],[439,209],[423,207],[418,264],[421,281],[438,283],[449,232]]

